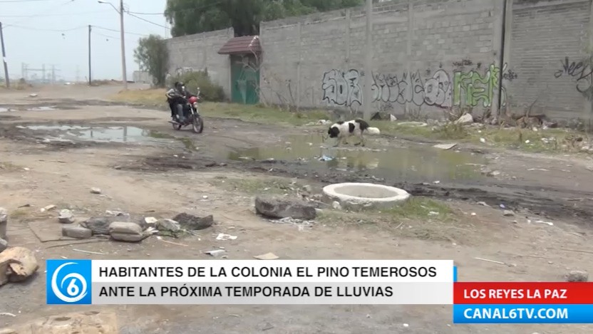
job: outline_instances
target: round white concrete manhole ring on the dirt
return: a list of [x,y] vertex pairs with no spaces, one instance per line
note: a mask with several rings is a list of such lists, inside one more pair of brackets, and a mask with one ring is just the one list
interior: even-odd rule
[[336,183],[323,189],[326,199],[337,201],[349,209],[393,207],[406,202],[411,195],[406,190],[373,183]]

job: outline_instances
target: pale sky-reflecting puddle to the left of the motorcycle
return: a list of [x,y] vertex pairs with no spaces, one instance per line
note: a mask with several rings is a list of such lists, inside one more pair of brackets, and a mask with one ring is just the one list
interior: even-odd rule
[[21,129],[46,132],[48,139],[86,140],[93,142],[147,142],[157,141],[150,130],[140,127],[113,126],[88,127],[80,125],[26,125]]

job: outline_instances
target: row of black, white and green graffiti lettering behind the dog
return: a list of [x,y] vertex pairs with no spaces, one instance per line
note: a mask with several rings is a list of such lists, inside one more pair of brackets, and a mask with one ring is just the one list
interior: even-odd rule
[[[430,73],[430,71],[428,71]],[[373,73],[373,102],[413,103],[440,108],[469,106],[485,108],[493,104],[498,91],[500,67],[495,64],[485,71],[468,70],[447,71],[439,69],[429,78],[423,78],[419,71],[402,73]],[[507,64],[502,66],[502,78],[514,80],[517,73],[507,71]],[[324,97],[331,105],[350,107],[362,104],[362,73],[357,70],[340,71],[333,69],[324,73],[321,88]],[[430,74],[429,74],[430,75]],[[502,87],[502,105],[505,104],[506,92]]]

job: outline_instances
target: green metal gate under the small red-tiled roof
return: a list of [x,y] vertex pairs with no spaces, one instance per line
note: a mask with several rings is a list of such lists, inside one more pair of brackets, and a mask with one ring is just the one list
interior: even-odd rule
[[231,56],[231,82],[233,103],[254,105],[259,102],[259,68],[253,56]]

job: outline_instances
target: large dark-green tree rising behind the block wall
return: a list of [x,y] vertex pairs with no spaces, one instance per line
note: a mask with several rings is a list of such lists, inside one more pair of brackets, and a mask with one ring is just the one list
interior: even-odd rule
[[259,34],[259,22],[359,6],[364,0],[167,0],[172,36],[232,26],[236,36]]

